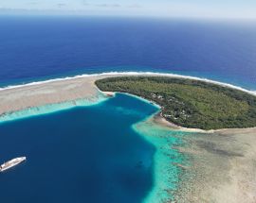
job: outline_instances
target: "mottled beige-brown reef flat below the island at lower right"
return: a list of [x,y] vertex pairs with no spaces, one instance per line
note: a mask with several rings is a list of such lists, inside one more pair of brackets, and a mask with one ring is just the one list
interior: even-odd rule
[[189,157],[176,202],[256,202],[256,128],[196,133],[176,149]]

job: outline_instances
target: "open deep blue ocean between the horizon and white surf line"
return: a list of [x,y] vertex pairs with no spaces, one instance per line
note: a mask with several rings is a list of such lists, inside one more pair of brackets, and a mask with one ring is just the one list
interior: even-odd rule
[[109,71],[201,76],[256,90],[256,22],[0,16],[0,86]]

